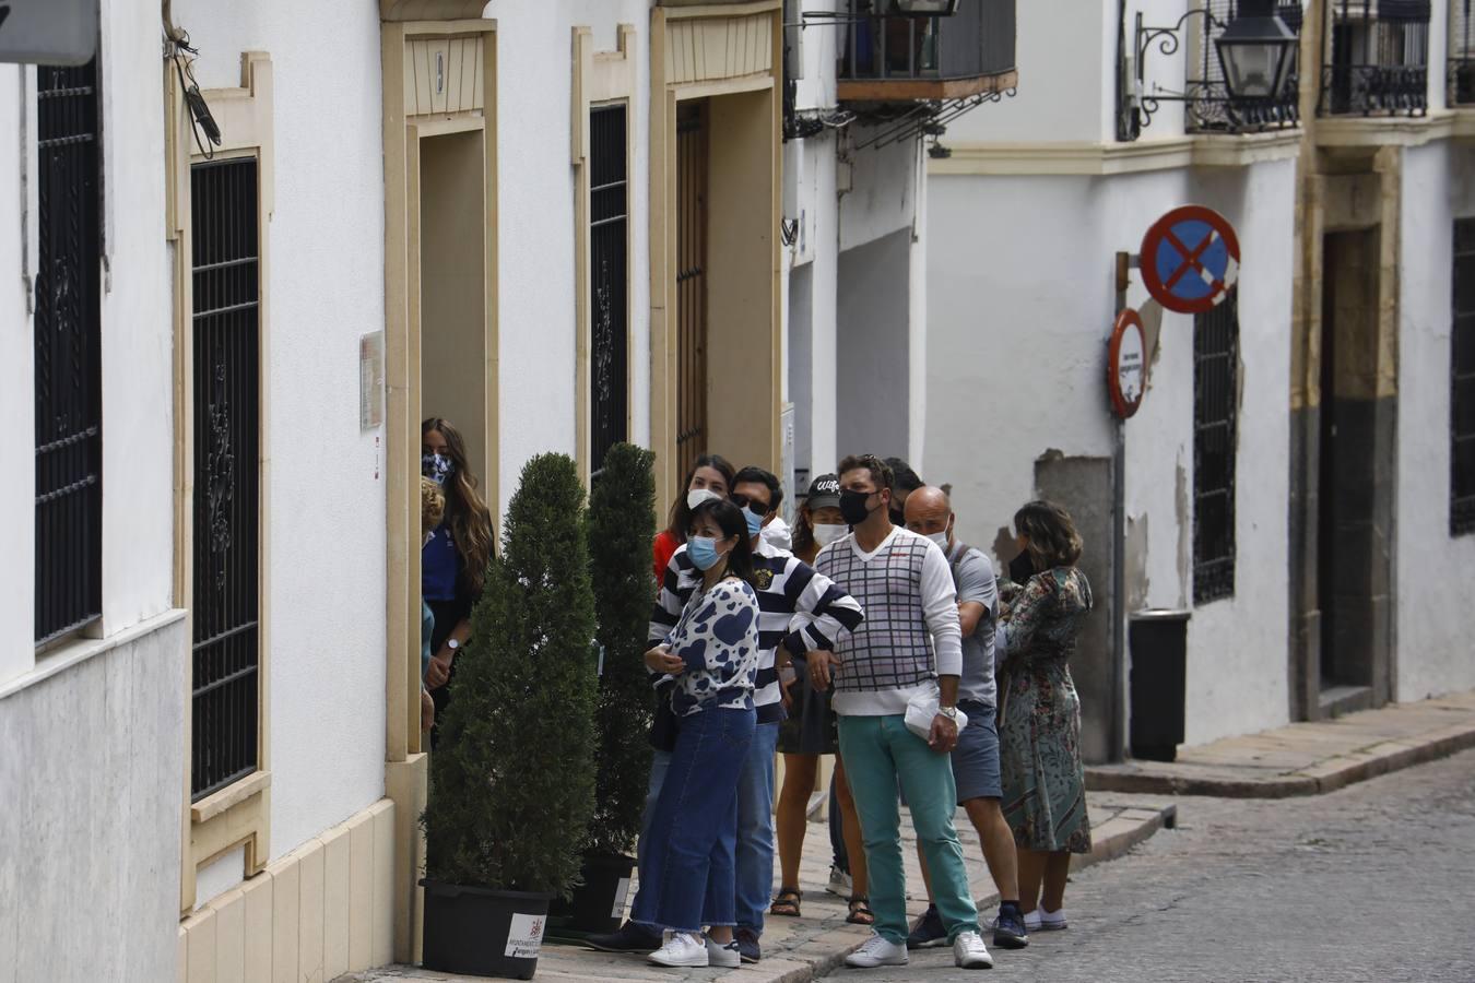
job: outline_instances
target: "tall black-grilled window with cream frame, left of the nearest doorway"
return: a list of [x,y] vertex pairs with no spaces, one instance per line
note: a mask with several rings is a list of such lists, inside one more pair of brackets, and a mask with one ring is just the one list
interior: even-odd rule
[[190,168],[195,800],[257,769],[261,262],[255,158]]

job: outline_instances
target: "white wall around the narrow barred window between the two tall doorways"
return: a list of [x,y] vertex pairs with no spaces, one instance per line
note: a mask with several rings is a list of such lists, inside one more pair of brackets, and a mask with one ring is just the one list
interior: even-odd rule
[[[500,501],[535,454],[575,449],[577,321],[574,167],[569,102],[572,29],[593,31],[596,52],[617,47],[617,25],[636,28],[630,100],[631,439],[650,436],[650,15],[649,0],[494,0],[497,21],[497,208],[500,363]],[[428,396],[426,396],[428,398]]]

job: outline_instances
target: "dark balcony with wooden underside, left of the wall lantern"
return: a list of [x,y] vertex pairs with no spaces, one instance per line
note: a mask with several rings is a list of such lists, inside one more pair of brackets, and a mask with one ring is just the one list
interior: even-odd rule
[[1018,84],[1015,0],[960,0],[956,13],[891,13],[892,0],[847,0],[841,102],[968,99]]

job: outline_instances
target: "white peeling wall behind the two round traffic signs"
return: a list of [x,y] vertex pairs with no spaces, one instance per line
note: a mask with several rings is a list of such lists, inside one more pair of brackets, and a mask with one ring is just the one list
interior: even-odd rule
[[[1012,539],[1015,510],[1034,495],[1049,451],[1109,458],[1115,421],[1105,385],[1117,311],[1115,253],[1136,253],[1152,221],[1202,203],[1236,227],[1240,402],[1236,461],[1236,590],[1193,606],[1193,318],[1164,314],[1142,410],[1125,423],[1125,610],[1193,609],[1189,628],[1187,743],[1285,722],[1288,703],[1289,360],[1295,161],[1236,168],[1164,167],[1111,158],[1117,128],[1118,16],[1131,44],[1136,13],[1173,25],[1183,0],[1115,0],[1075,12],[1089,27],[1062,31],[1047,6],[1019,6],[1018,96],[948,127],[960,152],[1006,144],[1015,161],[1038,153],[1059,168],[1032,175],[947,174],[928,184],[925,455],[919,470],[951,482],[962,538]],[[1145,94],[1181,90],[1193,44],[1152,46]],[[1134,144],[1180,141],[1183,112],[1162,103]],[[1220,137],[1229,140],[1227,137]],[[1000,165],[993,165],[1000,167]],[[1007,165],[1003,165],[1007,167]],[[1148,168],[1152,168],[1148,164]],[[1121,168],[1127,172],[1112,174]],[[948,168],[957,171],[956,167]],[[1139,171],[1139,172],[1131,172]],[[1133,273],[1130,307],[1148,302]],[[1149,320],[1152,315],[1149,312]],[[917,464],[917,461],[913,461]],[[1111,542],[1087,542],[1097,557]],[[1010,547],[1012,551],[1012,547]],[[1099,592],[1106,585],[1099,585]],[[1099,597],[1100,600],[1100,597]],[[1102,607],[1099,616],[1109,616]],[[1224,638],[1235,638],[1232,647]]]

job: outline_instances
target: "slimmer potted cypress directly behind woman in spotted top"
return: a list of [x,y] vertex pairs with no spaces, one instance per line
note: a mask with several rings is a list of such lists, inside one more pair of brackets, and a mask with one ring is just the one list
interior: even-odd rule
[[615,444],[589,492],[596,640],[603,653],[594,710],[596,799],[584,883],[563,909],[575,933],[614,931],[624,914],[650,774],[655,694],[645,666],[655,538],[655,454]]

